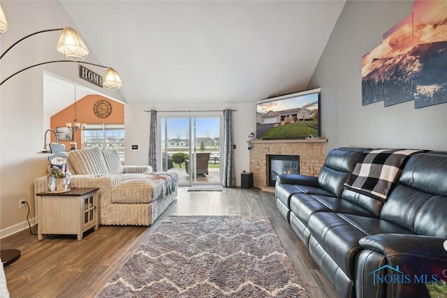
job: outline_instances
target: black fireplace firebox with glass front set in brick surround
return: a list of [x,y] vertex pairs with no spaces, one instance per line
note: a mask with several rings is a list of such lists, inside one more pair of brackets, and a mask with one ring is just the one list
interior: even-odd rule
[[299,155],[268,155],[269,186],[274,186],[279,174],[300,174]]

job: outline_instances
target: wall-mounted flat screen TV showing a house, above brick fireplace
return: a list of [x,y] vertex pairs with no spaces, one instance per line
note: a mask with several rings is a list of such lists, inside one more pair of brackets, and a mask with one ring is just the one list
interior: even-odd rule
[[256,138],[320,137],[320,91],[318,88],[258,101]]

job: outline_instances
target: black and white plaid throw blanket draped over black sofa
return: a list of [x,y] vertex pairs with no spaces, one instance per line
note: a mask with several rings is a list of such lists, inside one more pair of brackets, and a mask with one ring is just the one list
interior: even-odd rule
[[363,160],[344,184],[345,188],[379,200],[386,200],[408,158],[423,150],[376,149],[365,151]]

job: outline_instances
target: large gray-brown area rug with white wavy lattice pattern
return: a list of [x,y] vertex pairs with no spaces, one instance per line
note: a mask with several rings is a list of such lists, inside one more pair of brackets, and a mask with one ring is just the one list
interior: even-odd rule
[[308,297],[265,216],[168,216],[98,297]]

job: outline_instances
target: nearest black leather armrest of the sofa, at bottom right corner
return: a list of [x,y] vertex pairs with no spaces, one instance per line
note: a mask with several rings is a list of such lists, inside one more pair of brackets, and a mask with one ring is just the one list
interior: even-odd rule
[[386,297],[430,297],[425,284],[447,279],[444,241],[417,234],[363,237],[358,242],[365,250],[356,264],[358,270],[363,268],[356,278],[358,297],[375,298],[377,292],[386,292]]

